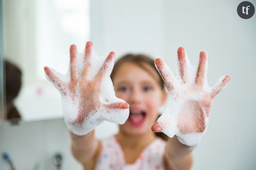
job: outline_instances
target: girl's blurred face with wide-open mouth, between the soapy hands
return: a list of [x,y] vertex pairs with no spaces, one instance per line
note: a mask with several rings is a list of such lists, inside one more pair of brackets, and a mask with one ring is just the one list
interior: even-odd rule
[[129,135],[147,133],[158,118],[158,110],[165,101],[167,93],[161,89],[155,70],[144,64],[147,70],[135,63],[123,63],[113,78],[116,96],[130,105],[130,115],[120,131]]

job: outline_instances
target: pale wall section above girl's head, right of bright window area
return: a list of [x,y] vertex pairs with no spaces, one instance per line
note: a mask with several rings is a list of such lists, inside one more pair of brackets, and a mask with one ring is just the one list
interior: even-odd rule
[[99,54],[164,55],[163,1],[91,1],[91,40]]

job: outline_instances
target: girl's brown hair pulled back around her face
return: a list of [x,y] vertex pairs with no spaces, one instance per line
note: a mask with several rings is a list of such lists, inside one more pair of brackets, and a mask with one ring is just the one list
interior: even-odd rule
[[[117,71],[120,68],[120,66],[123,63],[126,63],[126,62],[136,64],[137,66],[139,66],[143,70],[146,70],[152,77],[154,77],[153,74],[152,74],[152,71],[149,70],[147,67],[145,67],[145,64],[151,66],[158,75],[157,79],[155,77],[154,78],[156,79],[156,81],[158,81],[161,89],[162,90],[165,89],[165,84],[164,84],[164,82],[161,78],[161,75],[158,73],[158,70],[154,66],[154,59],[152,59],[151,57],[149,57],[147,55],[143,55],[143,54],[138,54],[138,55],[126,54],[126,55],[122,56],[120,59],[118,59],[117,62],[115,63],[115,65],[114,65],[112,73],[110,75],[110,78],[112,79],[112,81],[113,81],[113,78],[115,77],[115,75],[117,74]],[[158,118],[159,117],[160,117],[160,114],[159,114]],[[168,137],[162,132],[155,133],[155,134],[159,137],[162,137],[162,139],[164,139],[164,140],[168,139]]]

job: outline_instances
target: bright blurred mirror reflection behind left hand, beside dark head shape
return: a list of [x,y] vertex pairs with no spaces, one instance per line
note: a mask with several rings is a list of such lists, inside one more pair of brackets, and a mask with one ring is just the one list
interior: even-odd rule
[[89,0],[3,0],[4,58],[22,72],[13,105],[22,120],[61,118],[59,92],[43,67],[65,74],[69,46],[89,38]]

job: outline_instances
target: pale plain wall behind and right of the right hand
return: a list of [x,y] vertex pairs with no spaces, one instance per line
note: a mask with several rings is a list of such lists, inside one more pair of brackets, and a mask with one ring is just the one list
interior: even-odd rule
[[[209,55],[208,81],[229,74],[230,84],[213,101],[209,128],[194,155],[193,170],[256,167],[256,15],[237,15],[239,0],[166,1],[166,60],[184,46],[193,64]],[[250,1],[256,6],[256,1]],[[169,57],[169,59],[167,59]]]

